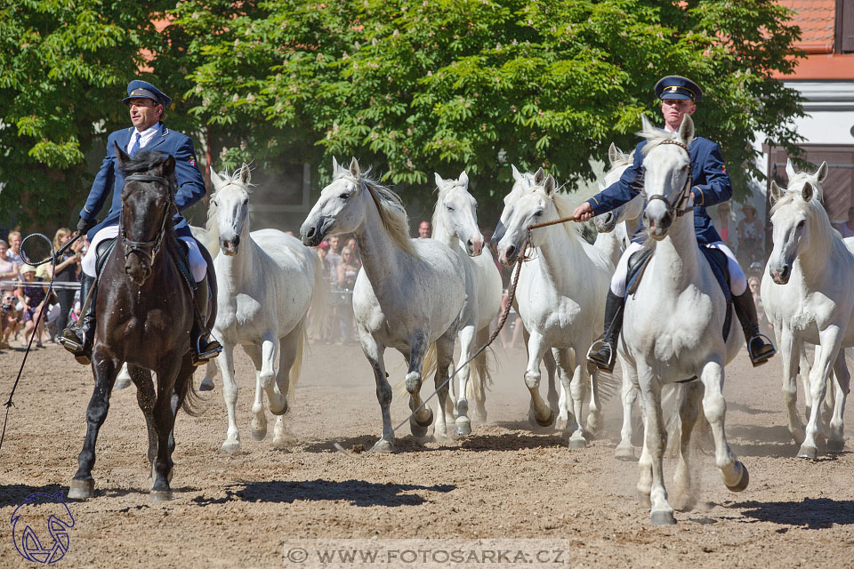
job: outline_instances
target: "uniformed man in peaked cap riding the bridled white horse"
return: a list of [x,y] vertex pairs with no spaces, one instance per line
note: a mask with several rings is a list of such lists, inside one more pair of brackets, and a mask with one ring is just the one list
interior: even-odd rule
[[[665,119],[665,130],[678,132],[682,119],[697,110],[696,103],[703,98],[703,92],[693,81],[681,76],[666,76],[656,84],[656,96],[661,100],[661,114]],[[594,215],[609,212],[637,196],[643,180],[643,152],[646,144],[642,140],[634,153],[634,164],[630,166],[620,180],[592,196],[576,208],[577,220],[586,221]],[[738,266],[736,256],[721,241],[712,225],[705,208],[729,200],[732,196],[732,184],[723,164],[721,149],[713,141],[696,137],[689,146],[691,157],[691,201],[694,204],[694,228],[697,242],[704,247],[718,249],[727,256],[729,267],[729,290],[732,293],[733,307],[742,325],[747,341],[747,351],[753,366],[762,365],[772,357],[776,350],[770,341],[759,333],[756,307],[753,295],[747,290],[744,271]],[[626,275],[629,259],[634,252],[640,251],[642,227],[632,237],[630,244],[616,266],[611,278],[608,299],[605,305],[605,332],[601,341],[594,343],[587,354],[588,361],[600,369],[611,372],[616,359],[616,341],[623,326],[623,308],[625,305]]]

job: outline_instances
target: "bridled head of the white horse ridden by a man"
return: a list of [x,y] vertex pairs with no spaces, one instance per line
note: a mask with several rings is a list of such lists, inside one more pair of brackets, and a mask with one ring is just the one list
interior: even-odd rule
[[647,209],[643,213],[649,236],[660,241],[667,236],[673,222],[683,213],[691,212],[691,156],[689,144],[694,140],[694,121],[686,115],[679,132],[667,132],[649,124],[643,116],[647,139],[643,148],[643,195]]

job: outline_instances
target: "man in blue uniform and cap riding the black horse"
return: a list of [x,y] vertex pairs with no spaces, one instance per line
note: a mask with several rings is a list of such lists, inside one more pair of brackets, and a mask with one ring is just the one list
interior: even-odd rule
[[[146,81],[134,80],[127,85],[127,97],[122,100],[128,106],[131,116],[131,128],[111,132],[107,137],[107,156],[101,164],[101,170],[95,176],[92,189],[86,199],[86,204],[80,212],[77,230],[88,232],[90,246],[83,259],[83,279],[80,288],[81,302],[90,295],[85,313],[80,316],[76,325],[71,325],[62,331],[60,342],[65,349],[74,354],[77,361],[89,365],[92,359],[92,348],[95,337],[95,305],[98,293],[97,272],[98,258],[109,252],[111,245],[118,235],[118,223],[122,212],[122,188],[125,185],[125,175],[118,167],[115,146],[128,155],[133,156],[140,150],[163,152],[175,158],[175,177],[178,189],[175,192],[175,205],[178,210],[188,208],[205,196],[205,181],[196,165],[196,151],[193,141],[181,132],[170,131],[162,122],[164,108],[172,99],[166,96],[153,84]],[[98,212],[107,201],[110,191],[113,201],[110,204],[107,218],[99,224],[95,219]],[[173,226],[178,238],[187,246],[187,261],[189,272],[196,281],[196,306],[200,318],[198,322],[206,321],[208,302],[208,283],[205,279],[207,263],[198,250],[197,241],[189,231],[187,220],[179,212],[173,215]],[[100,245],[100,246],[99,246]],[[101,249],[101,253],[98,250]],[[89,293],[89,291],[92,293]],[[167,293],[164,291],[164,293]],[[209,331],[202,325],[194,325],[190,345],[194,350],[194,361],[197,364],[215,357],[221,350],[218,341],[213,340]]]

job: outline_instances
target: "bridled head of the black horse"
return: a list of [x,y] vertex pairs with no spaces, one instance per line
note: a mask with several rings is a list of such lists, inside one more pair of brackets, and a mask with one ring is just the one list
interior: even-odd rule
[[163,239],[173,234],[175,159],[161,152],[141,150],[127,156],[116,144],[118,167],[125,174],[122,188],[121,244],[125,272],[141,285],[151,276]]

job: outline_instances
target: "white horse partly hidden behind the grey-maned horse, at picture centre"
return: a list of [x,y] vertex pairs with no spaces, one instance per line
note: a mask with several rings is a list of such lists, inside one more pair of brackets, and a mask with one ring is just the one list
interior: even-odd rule
[[[489,323],[501,308],[501,275],[488,248],[484,252],[483,236],[478,228],[477,201],[468,192],[469,177],[465,172],[457,180],[443,180],[436,174],[439,198],[433,210],[433,239],[453,249],[465,268],[465,303],[460,317],[460,363],[467,362],[476,349],[489,340]],[[481,254],[483,252],[483,254]],[[456,435],[471,433],[468,399],[477,403],[476,416],[486,421],[486,388],[489,378],[487,351],[471,364],[460,368],[456,400]],[[451,384],[453,389],[453,383]]]

